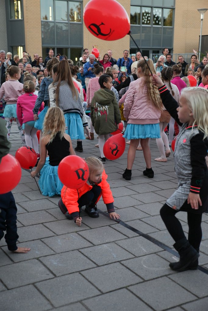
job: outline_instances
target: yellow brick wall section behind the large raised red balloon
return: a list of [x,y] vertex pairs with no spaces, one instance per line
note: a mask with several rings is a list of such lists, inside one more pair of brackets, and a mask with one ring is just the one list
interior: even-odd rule
[[[88,0],[83,0],[83,10],[85,8],[85,5],[89,2]],[[128,16],[130,18],[130,0],[119,0],[119,3],[125,8],[126,12],[128,13]],[[104,2],[103,2],[104,5]],[[102,8],[101,8],[102,9]],[[116,12],[114,12],[116,14]],[[84,30],[83,30],[83,43],[84,43],[84,49],[88,48],[89,52],[91,52],[93,45],[97,45],[101,59],[103,58],[103,55],[107,53],[107,51],[110,49],[113,52],[113,58],[116,58],[118,60],[119,57],[123,57],[123,50],[127,49],[129,50],[129,44],[130,44],[130,37],[129,35],[126,35],[124,38],[115,40],[115,41],[105,41],[96,38],[94,35],[92,35],[89,30],[87,30],[85,24],[84,24]]]

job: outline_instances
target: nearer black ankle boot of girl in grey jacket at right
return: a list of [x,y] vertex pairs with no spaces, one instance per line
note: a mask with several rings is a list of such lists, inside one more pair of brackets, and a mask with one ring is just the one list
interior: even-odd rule
[[193,248],[193,246],[191,246],[191,244],[187,241],[186,238],[179,240],[173,246],[180,255],[179,262],[176,262],[174,266],[172,263],[169,264],[169,267],[174,271],[178,272],[186,271],[188,266],[190,269],[191,264],[193,265],[193,263],[195,263],[199,258],[199,253],[196,251],[195,248]]

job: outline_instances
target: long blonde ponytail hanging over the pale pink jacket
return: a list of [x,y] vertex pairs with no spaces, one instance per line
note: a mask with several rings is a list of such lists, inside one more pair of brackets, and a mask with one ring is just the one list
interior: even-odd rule
[[[151,59],[147,60],[148,66],[153,74],[156,74],[154,64]],[[150,76],[151,72],[149,71],[149,68],[147,67],[147,64],[144,59],[141,59],[138,61],[137,69],[141,68],[142,73],[144,75],[144,85],[147,86],[147,96],[148,99],[154,104],[154,106],[157,108],[157,110],[162,111],[163,110],[163,104],[160,97],[160,93],[157,89],[157,86],[152,84],[152,77]]]

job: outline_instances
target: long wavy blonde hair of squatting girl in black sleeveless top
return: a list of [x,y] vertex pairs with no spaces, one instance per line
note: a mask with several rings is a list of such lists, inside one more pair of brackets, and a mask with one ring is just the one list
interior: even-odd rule
[[65,130],[66,125],[63,111],[59,107],[49,108],[43,122],[42,137],[49,137],[50,143],[58,132],[60,132],[60,138],[62,138]]

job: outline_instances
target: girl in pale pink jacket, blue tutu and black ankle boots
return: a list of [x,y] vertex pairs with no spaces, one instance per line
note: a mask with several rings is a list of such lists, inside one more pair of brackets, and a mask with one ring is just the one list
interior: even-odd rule
[[[148,59],[147,62],[152,73],[156,73],[152,60]],[[123,137],[131,140],[128,149],[127,168],[123,173],[123,178],[126,180],[131,179],[131,169],[139,139],[146,162],[146,169],[143,174],[148,178],[154,177],[148,140],[149,138],[160,138],[159,118],[163,105],[157,88],[152,85],[150,71],[144,59],[138,62],[137,76],[138,79],[129,85],[123,109],[123,115],[127,121]]]

